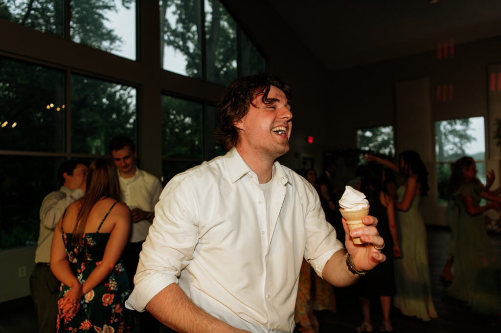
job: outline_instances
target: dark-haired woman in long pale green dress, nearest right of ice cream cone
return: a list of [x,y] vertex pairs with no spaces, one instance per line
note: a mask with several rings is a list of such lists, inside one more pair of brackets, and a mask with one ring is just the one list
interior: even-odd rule
[[437,311],[431,297],[428,236],[418,208],[421,197],[429,190],[426,166],[414,150],[400,153],[399,165],[373,155],[365,158],[399,172],[403,179],[395,203],[402,253],[395,259],[395,306],[403,314],[425,321],[436,318]]

